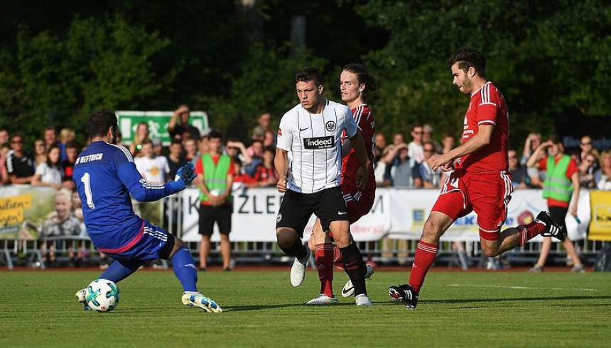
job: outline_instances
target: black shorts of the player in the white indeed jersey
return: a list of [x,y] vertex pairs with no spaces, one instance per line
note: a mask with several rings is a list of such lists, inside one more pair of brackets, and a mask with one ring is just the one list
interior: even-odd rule
[[329,230],[332,221],[350,221],[346,202],[339,187],[315,193],[286,190],[276,216],[276,228],[292,228],[303,237],[303,229],[313,213],[320,219],[323,230]]

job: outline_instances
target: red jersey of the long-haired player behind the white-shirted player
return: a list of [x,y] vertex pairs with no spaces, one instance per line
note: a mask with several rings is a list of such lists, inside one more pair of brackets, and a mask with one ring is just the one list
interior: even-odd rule
[[[376,124],[374,122],[374,116],[369,110],[367,104],[362,104],[352,109],[352,117],[355,118],[355,123],[359,127],[363,139],[365,140],[365,150],[367,150],[367,156],[372,160],[372,168],[369,170],[369,179],[367,179],[367,187],[364,189],[365,192],[371,193],[373,196],[376,189],[376,179],[374,176],[373,160],[374,160],[374,146],[375,146],[375,129]],[[343,135],[345,137],[345,133]],[[355,149],[350,150],[350,153],[342,159],[342,183],[344,181],[351,181],[356,183],[357,171],[361,167],[359,157]]]

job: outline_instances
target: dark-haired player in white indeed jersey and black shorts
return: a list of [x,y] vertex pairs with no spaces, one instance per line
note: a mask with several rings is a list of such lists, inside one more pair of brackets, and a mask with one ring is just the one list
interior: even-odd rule
[[[291,284],[303,281],[310,249],[303,245],[303,229],[314,213],[331,230],[344,260],[344,269],[355,286],[357,305],[371,305],[365,289],[365,266],[361,252],[350,235],[350,220],[342,191],[342,132],[350,138],[361,167],[357,185],[367,184],[372,163],[352,113],[347,106],[323,99],[323,78],[313,67],[295,75],[301,103],[284,114],[278,130],[274,164],[278,191],[285,193],[276,217],[276,239],[282,251],[296,261],[291,267]],[[289,160],[290,155],[290,160]]]

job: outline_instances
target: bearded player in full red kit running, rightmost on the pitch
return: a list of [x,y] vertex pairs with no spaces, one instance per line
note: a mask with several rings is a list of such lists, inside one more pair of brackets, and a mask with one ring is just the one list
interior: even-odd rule
[[560,226],[542,211],[528,225],[501,227],[507,218],[511,200],[512,177],[508,170],[507,140],[509,118],[503,95],[485,77],[486,60],[477,50],[465,47],[448,61],[453,84],[470,95],[465,113],[462,145],[443,155],[433,155],[426,162],[431,169],[446,172],[437,202],[428,216],[416,247],[409,284],[391,286],[389,295],[408,309],[416,308],[418,295],[428,269],[435,260],[439,238],[458,218],[477,213],[482,251],[494,257],[524,245],[536,235],[566,236]]

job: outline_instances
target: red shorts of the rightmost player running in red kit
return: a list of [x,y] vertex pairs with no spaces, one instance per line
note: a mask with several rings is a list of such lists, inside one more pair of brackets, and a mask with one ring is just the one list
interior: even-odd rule
[[513,191],[509,172],[470,174],[458,170],[445,179],[433,211],[444,213],[453,220],[475,211],[480,237],[497,240]]

